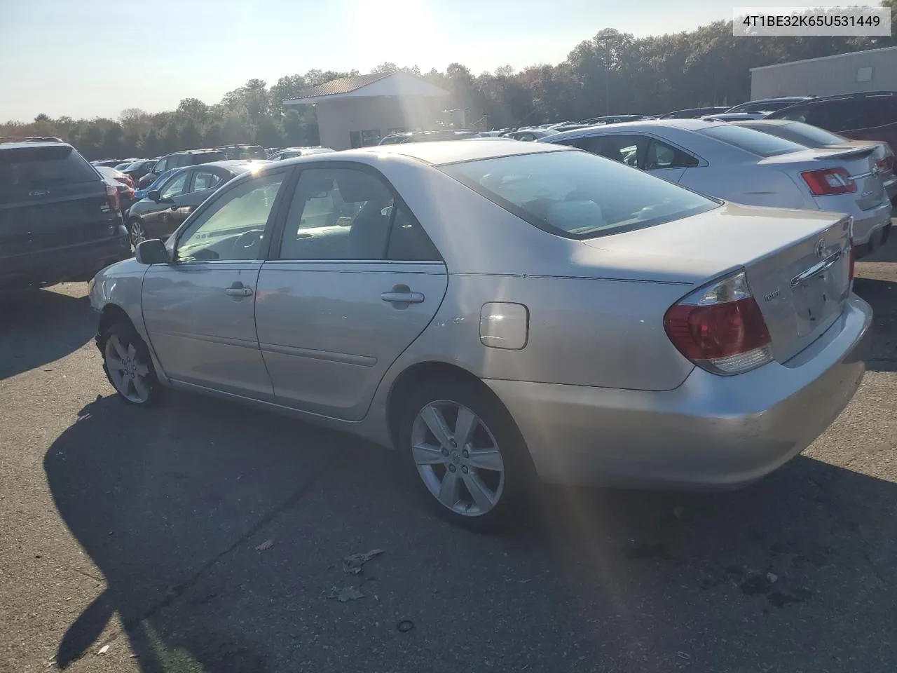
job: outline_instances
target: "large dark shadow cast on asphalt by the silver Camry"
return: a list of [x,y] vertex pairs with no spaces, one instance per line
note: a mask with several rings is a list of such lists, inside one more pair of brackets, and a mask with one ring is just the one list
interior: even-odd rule
[[97,398],[44,468],[107,585],[62,668],[115,613],[147,673],[869,673],[897,647],[897,485],[814,459],[727,494],[546,489],[492,537],[423,508],[390,451],[175,393]]

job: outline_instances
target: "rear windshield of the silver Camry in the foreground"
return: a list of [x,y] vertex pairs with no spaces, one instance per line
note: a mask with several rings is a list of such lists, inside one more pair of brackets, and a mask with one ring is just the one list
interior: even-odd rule
[[708,197],[586,152],[517,154],[440,170],[528,223],[574,239],[671,222],[718,206]]

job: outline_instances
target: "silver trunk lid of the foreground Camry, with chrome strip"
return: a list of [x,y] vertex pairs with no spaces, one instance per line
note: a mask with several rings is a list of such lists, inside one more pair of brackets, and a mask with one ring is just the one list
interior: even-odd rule
[[744,267],[770,331],[773,356],[785,362],[844,309],[850,293],[849,237],[850,219],[839,214],[726,204],[584,242],[623,267],[652,268],[655,278],[667,267],[669,282],[688,277],[684,267],[706,274],[695,284]]

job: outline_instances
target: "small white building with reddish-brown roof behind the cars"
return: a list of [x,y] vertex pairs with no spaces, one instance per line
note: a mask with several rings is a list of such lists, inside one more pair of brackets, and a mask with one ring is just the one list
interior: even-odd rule
[[448,92],[402,71],[341,77],[284,105],[313,105],[321,144],[347,150],[395,133],[432,128]]

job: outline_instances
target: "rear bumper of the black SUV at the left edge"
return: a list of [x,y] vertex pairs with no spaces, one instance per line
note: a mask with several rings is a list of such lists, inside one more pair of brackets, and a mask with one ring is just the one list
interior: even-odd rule
[[129,257],[127,230],[119,224],[109,238],[0,258],[0,285],[89,280],[101,268]]

